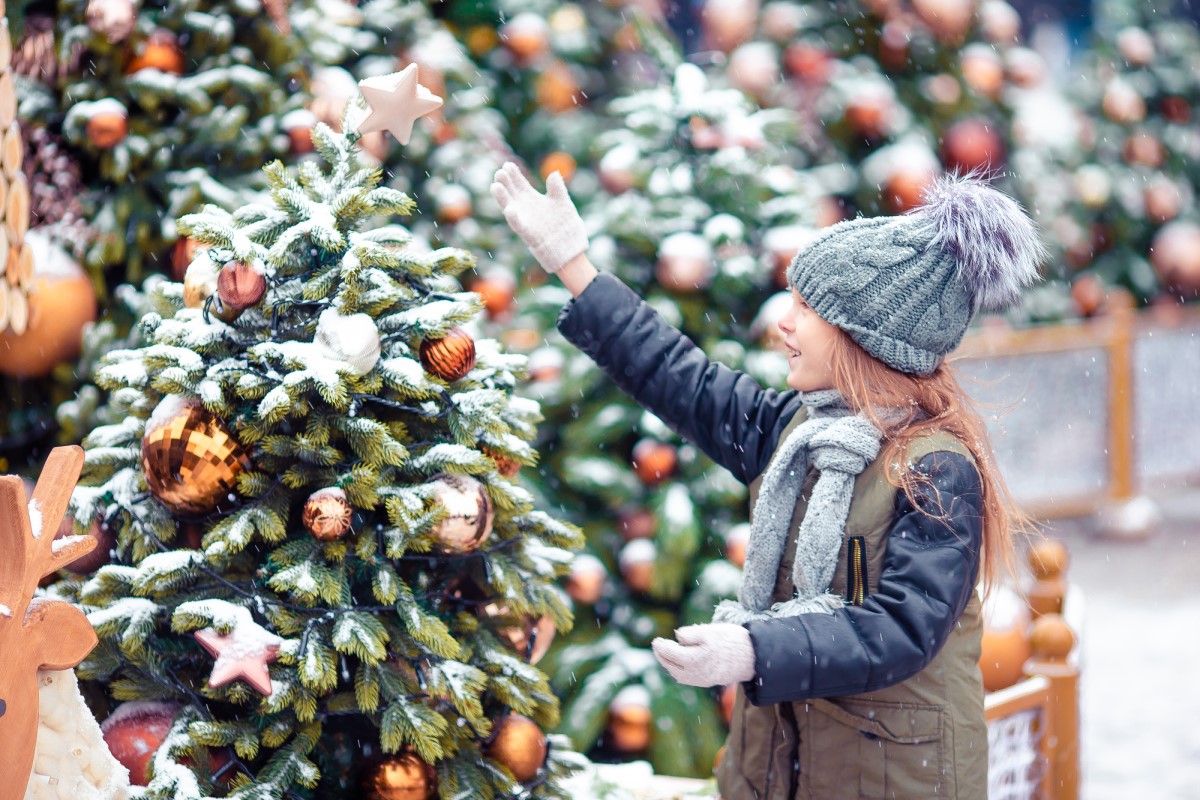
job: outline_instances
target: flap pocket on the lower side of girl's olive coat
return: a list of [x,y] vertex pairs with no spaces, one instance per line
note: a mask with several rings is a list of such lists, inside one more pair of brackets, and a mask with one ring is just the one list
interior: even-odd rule
[[[809,700],[804,759],[811,798],[952,798],[943,764],[943,709],[882,700]],[[850,765],[850,769],[847,769]]]

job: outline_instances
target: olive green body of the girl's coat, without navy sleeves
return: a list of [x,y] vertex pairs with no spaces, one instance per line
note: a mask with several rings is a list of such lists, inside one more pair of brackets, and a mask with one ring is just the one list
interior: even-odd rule
[[[782,443],[804,419],[802,410],[780,434]],[[949,433],[912,443],[907,461],[931,452],[971,457]],[[846,534],[830,590],[860,604],[883,567],[895,493],[882,459],[854,481]],[[792,518],[799,528],[816,480],[810,470]],[[761,477],[750,487],[750,507]],[[779,565],[774,601],[793,595],[794,536]],[[973,594],[954,632],[934,661],[906,681],[853,697],[755,708],[740,686],[725,754],[716,769],[724,800],[926,800],[988,796],[988,728],[978,661],[983,637],[979,596]],[[854,646],[847,642],[846,646]]]

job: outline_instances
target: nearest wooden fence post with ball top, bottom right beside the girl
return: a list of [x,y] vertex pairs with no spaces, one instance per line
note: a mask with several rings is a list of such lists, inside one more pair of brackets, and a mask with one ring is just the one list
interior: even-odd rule
[[1046,757],[1043,796],[1079,800],[1079,668],[1070,663],[1075,634],[1058,614],[1038,616],[1030,637],[1033,657],[1025,674],[1050,681],[1042,752]]

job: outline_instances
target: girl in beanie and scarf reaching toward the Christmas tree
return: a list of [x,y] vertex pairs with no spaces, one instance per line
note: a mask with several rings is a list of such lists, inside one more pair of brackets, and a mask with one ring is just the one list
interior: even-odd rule
[[492,193],[575,300],[558,327],[750,486],[737,601],[656,639],[692,686],[739,684],[725,800],[986,798],[980,602],[1010,554],[1007,492],[946,355],[1043,258],[1007,196],[943,178],[899,217],[823,231],[787,272],[791,391],[713,363],[584,251],[562,178]]

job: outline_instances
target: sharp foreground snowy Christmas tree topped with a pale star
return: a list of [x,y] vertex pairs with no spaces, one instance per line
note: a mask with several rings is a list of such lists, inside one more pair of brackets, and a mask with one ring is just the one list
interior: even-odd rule
[[80,674],[146,796],[558,798],[577,764],[532,662],[578,534],[514,480],[539,413],[523,357],[460,327],[474,259],[380,222],[413,203],[359,131],[428,100],[391,88],[418,95],[313,130],[328,169],[275,162],[270,204],[181,219],[174,313],[98,371],[124,419],[88,437],[73,512],[116,561],[78,588]]

